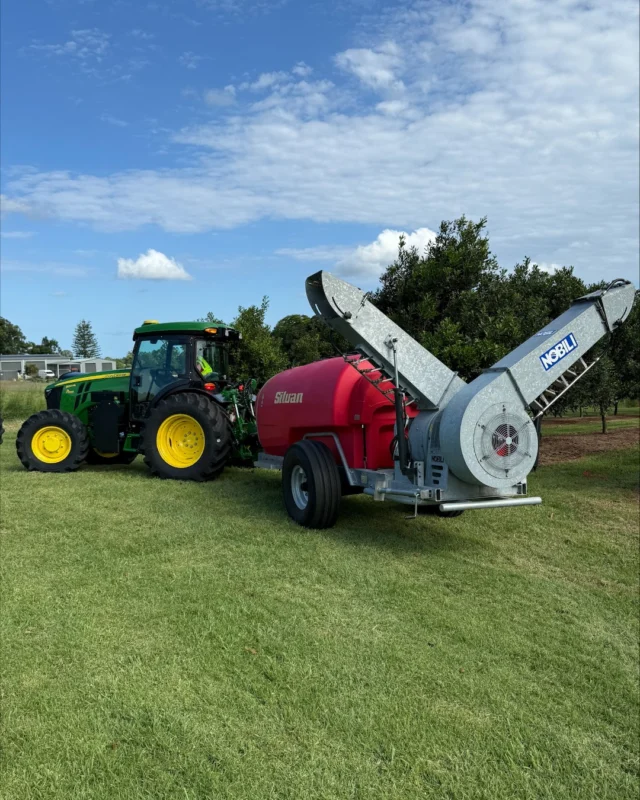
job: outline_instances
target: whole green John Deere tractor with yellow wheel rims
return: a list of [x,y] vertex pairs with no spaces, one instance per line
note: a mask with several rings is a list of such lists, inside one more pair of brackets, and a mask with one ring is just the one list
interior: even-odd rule
[[222,323],[147,320],[136,328],[131,369],[67,373],[47,386],[47,410],[16,440],[29,470],[71,472],[84,462],[144,456],[162,478],[216,478],[257,450],[255,380],[228,380],[241,334]]

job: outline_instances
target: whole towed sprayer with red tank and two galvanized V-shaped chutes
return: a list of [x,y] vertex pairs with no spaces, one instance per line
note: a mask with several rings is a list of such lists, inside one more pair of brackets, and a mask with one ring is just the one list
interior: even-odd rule
[[318,272],[306,291],[354,353],[264,385],[256,466],[282,470],[287,512],[310,528],[334,525],[341,495],[356,492],[445,517],[542,502],[527,495],[535,422],[589,371],[587,352],[635,298],[622,279],[578,298],[467,384],[356,287]]

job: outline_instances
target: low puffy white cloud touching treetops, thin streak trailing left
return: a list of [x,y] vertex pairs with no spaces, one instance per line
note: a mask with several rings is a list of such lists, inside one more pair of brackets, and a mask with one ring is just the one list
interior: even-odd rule
[[386,229],[380,233],[373,242],[349,247],[305,247],[281,248],[276,255],[295,258],[297,261],[330,261],[332,269],[338,275],[364,279],[367,283],[374,282],[384,270],[395,261],[398,255],[400,237],[404,236],[405,247],[423,254],[427,246],[434,241],[436,234],[429,228],[418,228],[412,233]]

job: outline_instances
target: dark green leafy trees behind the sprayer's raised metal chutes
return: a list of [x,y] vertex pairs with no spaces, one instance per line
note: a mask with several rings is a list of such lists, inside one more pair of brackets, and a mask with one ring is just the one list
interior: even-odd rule
[[[420,253],[400,238],[398,255],[369,299],[394,322],[465,380],[541,330],[578,297],[609,281],[587,284],[573,267],[547,272],[525,258],[512,270],[491,252],[486,219],[443,221],[435,240]],[[234,371],[265,381],[282,369],[308,364],[349,344],[317,317],[292,314],[273,328],[265,321],[268,299],[240,308],[233,326],[243,334]],[[215,319],[214,315],[210,315]],[[603,432],[606,415],[622,400],[640,399],[640,302],[611,336],[591,351],[597,364],[553,406],[595,408]]]

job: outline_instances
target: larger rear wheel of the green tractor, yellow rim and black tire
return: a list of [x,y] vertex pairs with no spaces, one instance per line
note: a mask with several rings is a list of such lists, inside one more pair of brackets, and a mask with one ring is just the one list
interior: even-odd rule
[[229,461],[233,434],[224,409],[203,395],[161,400],[142,433],[144,463],[154,475],[181,481],[217,478]]

